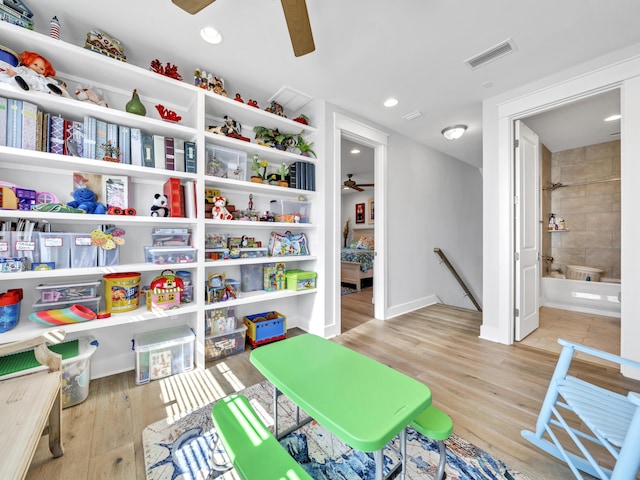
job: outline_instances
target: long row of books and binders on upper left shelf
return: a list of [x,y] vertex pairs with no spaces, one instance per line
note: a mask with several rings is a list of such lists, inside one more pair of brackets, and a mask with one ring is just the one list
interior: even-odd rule
[[0,146],[102,160],[118,149],[120,163],[196,173],[196,144],[85,116],[82,122],[44,112],[26,100],[0,97]]

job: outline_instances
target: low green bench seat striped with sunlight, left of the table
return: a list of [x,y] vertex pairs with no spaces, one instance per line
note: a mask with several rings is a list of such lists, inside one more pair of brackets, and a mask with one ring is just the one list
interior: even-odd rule
[[211,416],[229,461],[243,480],[313,480],[278,443],[242,395],[217,401]]

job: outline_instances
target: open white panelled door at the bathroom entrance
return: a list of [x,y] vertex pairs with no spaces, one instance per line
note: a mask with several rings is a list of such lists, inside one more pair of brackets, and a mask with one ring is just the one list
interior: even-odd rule
[[540,307],[540,142],[521,121],[515,124],[515,339],[539,323]]

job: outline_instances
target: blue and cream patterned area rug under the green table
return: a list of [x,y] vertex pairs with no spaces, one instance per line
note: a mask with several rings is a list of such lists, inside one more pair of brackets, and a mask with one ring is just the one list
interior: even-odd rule
[[[272,427],[271,384],[259,383],[239,393],[251,401],[265,424]],[[285,397],[281,397],[278,409],[279,428],[285,429],[292,425],[295,406]],[[183,417],[149,425],[142,433],[147,480],[237,479],[233,471],[219,474],[212,470],[210,458],[215,440],[211,404]],[[352,450],[315,422],[288,435],[280,443],[316,480],[374,478],[375,464],[372,454]],[[396,448],[397,443],[396,440]],[[448,480],[527,480],[523,474],[455,434],[446,444]],[[220,448],[218,445],[216,459],[224,463],[226,457]],[[398,455],[392,448],[385,449],[384,453],[385,468],[390,469],[397,464]],[[409,429],[407,454],[408,480],[430,478],[435,473],[439,460],[436,442]]]

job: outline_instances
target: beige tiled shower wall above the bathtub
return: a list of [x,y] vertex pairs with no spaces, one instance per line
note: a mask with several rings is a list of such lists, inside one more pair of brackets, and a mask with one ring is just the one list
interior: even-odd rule
[[[551,153],[550,162],[542,150],[543,275],[548,255],[553,257],[550,270],[564,273],[567,264],[582,265],[620,278],[620,141]],[[611,181],[575,185],[602,180]],[[551,183],[566,186],[544,189]],[[546,233],[551,213],[564,218],[569,231]]]

